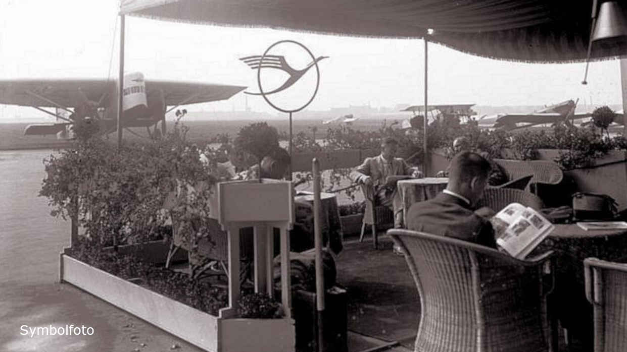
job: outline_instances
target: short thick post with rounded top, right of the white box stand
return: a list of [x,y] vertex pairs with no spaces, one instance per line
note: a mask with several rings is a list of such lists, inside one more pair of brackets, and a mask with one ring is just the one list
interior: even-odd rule
[[315,292],[318,311],[317,351],[323,351],[324,341],[324,272],[322,271],[322,230],[320,228],[320,163],[317,158],[312,160],[314,172],[314,244],[315,244]]

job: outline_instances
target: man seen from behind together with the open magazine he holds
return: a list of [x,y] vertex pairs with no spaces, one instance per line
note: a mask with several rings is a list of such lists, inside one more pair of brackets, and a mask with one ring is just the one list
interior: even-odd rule
[[512,203],[494,214],[474,210],[487,185],[490,163],[477,153],[461,152],[451,160],[446,189],[433,199],[412,205],[408,229],[455,237],[524,259],[554,226],[534,209]]

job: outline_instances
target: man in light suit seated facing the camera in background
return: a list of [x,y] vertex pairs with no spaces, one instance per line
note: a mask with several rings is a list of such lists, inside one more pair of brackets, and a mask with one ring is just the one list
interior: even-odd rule
[[398,142],[386,137],[381,142],[381,155],[366,158],[352,173],[350,178],[357,184],[373,187],[374,202],[385,205],[394,212],[394,227],[403,227],[403,204],[396,192],[396,179],[393,176],[412,175],[412,170],[402,158],[395,158]]

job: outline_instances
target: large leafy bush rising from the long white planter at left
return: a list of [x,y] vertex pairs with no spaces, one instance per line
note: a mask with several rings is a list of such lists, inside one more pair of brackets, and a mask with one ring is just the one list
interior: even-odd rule
[[209,213],[217,166],[202,163],[185,135],[186,128],[177,126],[161,140],[119,150],[99,138],[80,140],[45,159],[48,175],[40,195],[48,197],[51,215],[78,214],[86,236],[101,244],[146,241],[165,224],[164,208],[192,242],[208,237],[202,219]]

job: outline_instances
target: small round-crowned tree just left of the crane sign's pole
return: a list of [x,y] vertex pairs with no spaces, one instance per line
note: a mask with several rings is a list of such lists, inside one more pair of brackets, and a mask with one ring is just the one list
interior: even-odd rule
[[261,182],[261,159],[278,148],[277,128],[257,122],[242,127],[235,138],[235,148],[254,155],[257,159],[258,177]]

